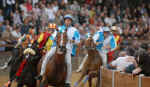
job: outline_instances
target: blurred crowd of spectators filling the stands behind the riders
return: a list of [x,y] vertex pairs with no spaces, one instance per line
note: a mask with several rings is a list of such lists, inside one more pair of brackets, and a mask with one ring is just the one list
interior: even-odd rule
[[[35,29],[36,34],[39,34],[49,22],[62,25],[63,16],[68,13],[73,15],[73,25],[80,31],[81,39],[89,31],[94,32],[103,26],[117,26],[124,44],[129,40],[150,40],[150,2],[127,1],[129,0],[1,0],[0,37],[9,39],[0,43],[15,43],[30,29]],[[1,47],[0,50],[5,48]],[[122,58],[125,57],[117,61]],[[129,64],[133,64],[133,58],[130,59],[132,62]],[[116,61],[112,63],[112,66],[115,65]]]

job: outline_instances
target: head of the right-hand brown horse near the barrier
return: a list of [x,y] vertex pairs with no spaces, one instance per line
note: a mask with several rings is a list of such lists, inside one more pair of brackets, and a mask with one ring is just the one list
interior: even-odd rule
[[94,44],[92,36],[90,36],[86,41],[85,41],[85,47],[87,49],[95,49],[96,45]]

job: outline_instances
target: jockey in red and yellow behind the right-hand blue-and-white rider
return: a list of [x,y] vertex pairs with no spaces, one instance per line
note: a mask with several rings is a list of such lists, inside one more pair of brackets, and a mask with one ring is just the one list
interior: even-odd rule
[[108,63],[113,61],[113,54],[119,49],[119,46],[121,43],[120,33],[119,33],[117,26],[112,26],[111,31],[112,31],[112,34],[114,35],[115,43],[117,44],[117,46],[115,49],[113,49],[112,51],[108,53]]

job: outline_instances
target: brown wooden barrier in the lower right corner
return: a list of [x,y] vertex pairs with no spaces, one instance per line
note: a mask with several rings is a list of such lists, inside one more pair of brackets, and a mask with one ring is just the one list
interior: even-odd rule
[[150,77],[101,68],[101,87],[150,87]]

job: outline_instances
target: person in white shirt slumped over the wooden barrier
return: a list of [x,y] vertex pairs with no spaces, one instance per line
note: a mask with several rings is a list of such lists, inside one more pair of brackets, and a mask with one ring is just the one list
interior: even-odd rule
[[109,67],[121,72],[131,73],[137,67],[137,63],[133,56],[128,56],[127,52],[122,51],[120,52],[120,57],[112,61]]

